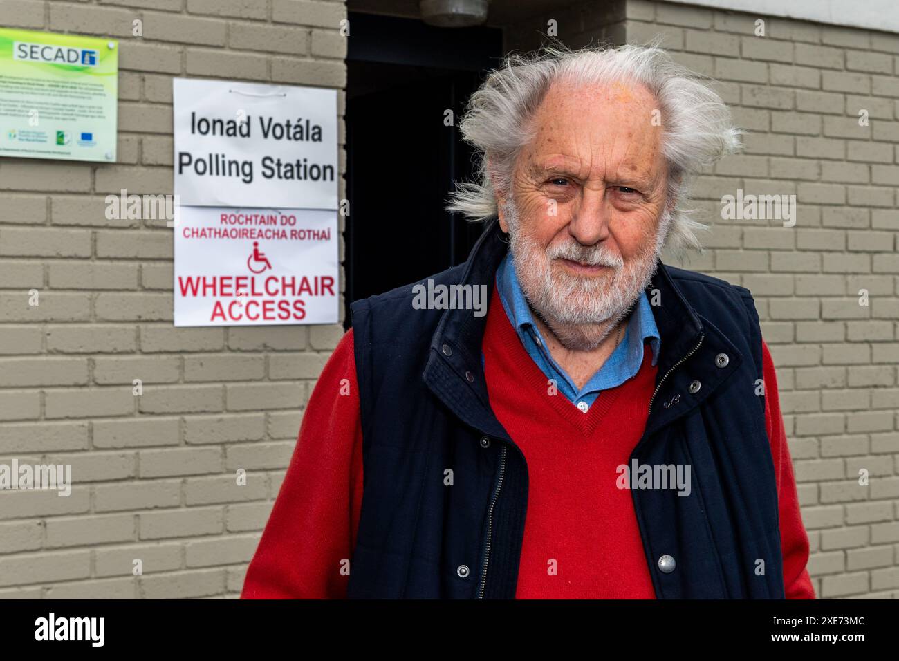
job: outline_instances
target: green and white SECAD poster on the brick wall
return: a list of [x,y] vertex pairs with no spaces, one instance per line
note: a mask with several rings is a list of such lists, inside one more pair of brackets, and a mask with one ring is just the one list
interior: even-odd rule
[[0,28],[0,156],[114,162],[118,46]]

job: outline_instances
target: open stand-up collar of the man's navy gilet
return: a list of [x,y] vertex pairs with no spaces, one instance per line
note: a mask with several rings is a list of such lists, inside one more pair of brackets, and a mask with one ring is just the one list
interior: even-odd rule
[[[508,248],[508,237],[499,227],[499,220],[490,220],[468,255],[459,284],[484,285],[489,300],[496,268]],[[646,423],[648,435],[699,406],[734,373],[743,357],[711,321],[701,317],[690,305],[661,260],[646,287],[646,295],[662,349],[657,362],[654,401]],[[481,362],[486,318],[486,315],[475,317],[472,310],[446,310],[432,335],[430,356],[422,376],[432,392],[466,424],[511,442],[496,420],[487,395]],[[719,354],[727,357],[724,367],[717,362]],[[690,393],[690,383],[697,380],[699,390]]]

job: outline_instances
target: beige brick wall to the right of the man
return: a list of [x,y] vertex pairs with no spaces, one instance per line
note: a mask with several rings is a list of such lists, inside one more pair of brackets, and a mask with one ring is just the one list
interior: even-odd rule
[[[539,46],[552,19],[574,48],[662,35],[675,59],[717,79],[745,149],[697,182],[705,254],[668,262],[752,290],[818,596],[899,598],[899,35],[620,0],[516,24],[507,49]],[[795,194],[796,226],[722,219],[737,189]]]

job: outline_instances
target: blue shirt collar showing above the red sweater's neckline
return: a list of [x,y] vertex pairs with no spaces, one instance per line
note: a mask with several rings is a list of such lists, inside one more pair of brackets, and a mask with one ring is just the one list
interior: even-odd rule
[[[592,406],[602,390],[620,386],[633,378],[643,364],[643,343],[649,340],[653,350],[653,364],[659,358],[661,337],[655,326],[653,310],[649,306],[646,292],[641,291],[636,305],[631,311],[625,335],[615,351],[602,364],[602,367],[588,380],[582,389],[577,389],[574,380],[568,376],[547,350],[546,342],[534,323],[528,300],[524,297],[512,257],[506,253],[496,270],[496,286],[500,300],[503,301],[506,315],[512,322],[515,332],[521,339],[525,351],[537,366],[547,375],[547,380],[556,380],[556,387],[573,404],[578,405],[584,413]],[[583,404],[582,404],[583,402]]]

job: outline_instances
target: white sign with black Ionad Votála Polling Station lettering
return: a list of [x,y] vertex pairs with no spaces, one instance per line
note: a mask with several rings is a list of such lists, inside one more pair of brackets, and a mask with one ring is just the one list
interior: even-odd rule
[[182,204],[337,209],[337,91],[174,78]]

